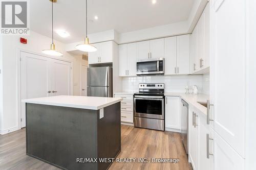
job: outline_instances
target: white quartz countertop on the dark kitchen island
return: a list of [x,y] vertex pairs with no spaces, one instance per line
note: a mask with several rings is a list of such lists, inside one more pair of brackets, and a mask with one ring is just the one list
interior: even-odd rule
[[99,110],[106,106],[120,102],[121,98],[100,98],[92,96],[57,95],[47,98],[35,98],[22,100],[24,103],[73,107],[81,109]]

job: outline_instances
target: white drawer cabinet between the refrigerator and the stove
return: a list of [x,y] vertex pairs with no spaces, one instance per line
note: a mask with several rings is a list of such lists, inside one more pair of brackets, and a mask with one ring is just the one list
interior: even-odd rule
[[115,98],[122,98],[121,101],[121,122],[133,123],[133,95],[115,94]]

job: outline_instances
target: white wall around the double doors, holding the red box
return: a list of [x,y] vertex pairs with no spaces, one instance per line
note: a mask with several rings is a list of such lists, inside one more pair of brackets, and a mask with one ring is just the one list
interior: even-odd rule
[[[37,53],[43,55],[41,50],[49,49],[51,39],[46,36],[42,36],[35,32],[30,32],[29,36],[23,36],[28,39],[28,44],[22,44],[19,42],[17,36],[3,36],[3,112],[2,112],[2,124],[0,133],[8,133],[18,128],[18,114],[17,114],[17,49],[21,49],[28,52]],[[66,59],[74,61],[74,57],[65,52],[65,44],[55,42],[56,50],[63,53],[62,57],[56,57],[59,59]],[[79,72],[74,74],[79,74]]]

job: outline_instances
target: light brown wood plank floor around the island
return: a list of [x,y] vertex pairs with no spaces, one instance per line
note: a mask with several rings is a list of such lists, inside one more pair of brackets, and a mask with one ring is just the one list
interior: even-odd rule
[[[0,135],[0,169],[35,170],[59,169],[26,155],[25,129]],[[192,169],[187,162],[184,147],[179,133],[160,132],[155,130],[121,126],[121,152],[117,158],[172,158],[179,163],[118,163],[114,162],[109,169]],[[137,159],[136,159],[137,160]]]

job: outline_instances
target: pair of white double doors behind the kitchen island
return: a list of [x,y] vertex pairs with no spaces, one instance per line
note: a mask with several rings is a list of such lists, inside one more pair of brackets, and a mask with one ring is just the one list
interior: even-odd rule
[[[20,52],[20,99],[72,95],[71,62]],[[56,92],[55,92],[56,91]],[[25,103],[20,101],[20,127],[26,127]]]

